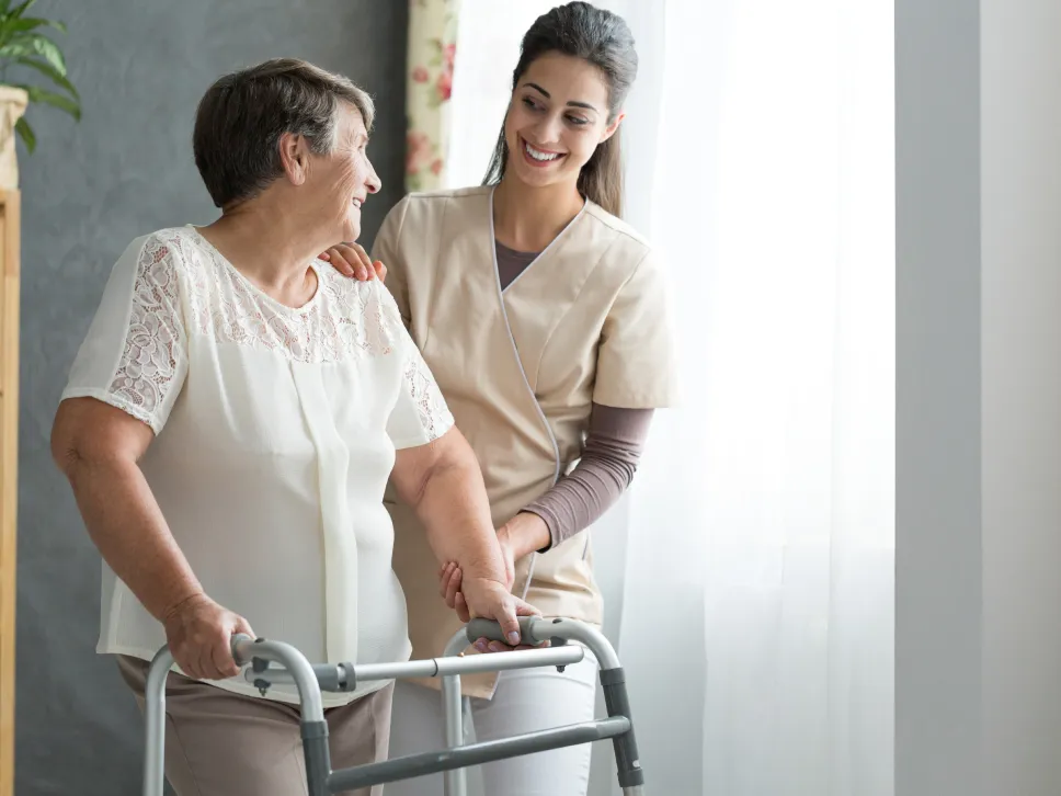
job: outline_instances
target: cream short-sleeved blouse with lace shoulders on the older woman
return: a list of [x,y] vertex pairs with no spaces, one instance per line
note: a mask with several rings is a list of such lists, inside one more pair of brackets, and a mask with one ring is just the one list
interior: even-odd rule
[[[141,467],[170,531],[207,593],[255,633],[311,662],[400,660],[410,645],[384,489],[396,448],[441,436],[453,417],[387,289],[313,268],[317,293],[293,309],[194,227],[135,240],[62,397],[155,431]],[[99,651],[149,659],[164,643],[104,564]]]

